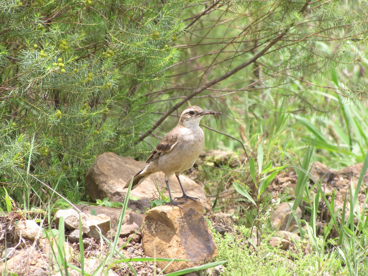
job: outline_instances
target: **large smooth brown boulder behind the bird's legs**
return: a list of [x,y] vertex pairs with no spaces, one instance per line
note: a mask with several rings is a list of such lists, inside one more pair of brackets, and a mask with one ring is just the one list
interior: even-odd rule
[[[95,163],[92,164],[85,176],[86,194],[91,196],[93,200],[108,197],[110,201],[123,202],[127,191],[127,189],[123,189],[125,183],[144,166],[145,162],[138,162],[131,157],[121,157],[112,152],[103,153],[97,156]],[[180,176],[180,179],[187,194],[199,198],[204,208],[210,210],[201,185],[185,176]],[[176,177],[170,177],[169,183],[173,198],[180,197],[183,193]],[[158,198],[159,191],[155,184],[157,184],[159,191],[166,187],[164,173],[151,174],[132,190],[131,195],[139,197],[139,201],[129,201],[128,206],[133,210],[141,211],[145,211],[145,207],[151,208],[149,199]],[[169,196],[167,192],[164,192],[164,195]]]

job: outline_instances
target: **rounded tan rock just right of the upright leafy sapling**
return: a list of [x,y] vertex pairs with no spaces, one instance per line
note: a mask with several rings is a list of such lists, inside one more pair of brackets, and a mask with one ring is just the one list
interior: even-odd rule
[[[289,207],[290,204],[290,207]],[[271,216],[271,226],[275,230],[288,230],[286,229],[287,222],[289,220],[289,217],[291,216],[289,227],[296,224],[295,217],[291,213],[291,209],[293,208],[293,202],[282,202],[277,206],[275,212],[272,213]],[[297,207],[296,216],[298,219],[301,218],[301,209],[299,206]]]

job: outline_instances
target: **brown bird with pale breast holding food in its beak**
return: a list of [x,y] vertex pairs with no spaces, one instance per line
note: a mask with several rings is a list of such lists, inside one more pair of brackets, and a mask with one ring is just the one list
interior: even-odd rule
[[[183,171],[190,169],[194,165],[195,160],[197,160],[202,151],[205,135],[202,128],[199,127],[199,121],[201,121],[204,115],[209,114],[217,115],[222,113],[203,110],[198,106],[186,107],[180,115],[177,126],[162,138],[151,152],[151,155],[149,155],[146,166],[132,178],[132,189],[137,187],[150,174],[162,171],[165,174],[167,191],[169,192],[172,205],[178,206],[177,203],[183,203],[174,202],[171,197],[169,177],[173,174],[178,179],[183,191],[183,196],[175,199],[198,199],[190,197],[185,193],[179,176]],[[124,188],[127,188],[130,182],[131,180],[125,184]]]

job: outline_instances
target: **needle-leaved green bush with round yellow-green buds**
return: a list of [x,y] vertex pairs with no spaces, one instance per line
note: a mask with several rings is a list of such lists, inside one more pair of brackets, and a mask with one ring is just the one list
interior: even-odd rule
[[131,148],[149,126],[142,94],[177,58],[183,5],[0,3],[0,178],[20,206],[49,192],[35,178],[79,193],[96,155],[144,150]]

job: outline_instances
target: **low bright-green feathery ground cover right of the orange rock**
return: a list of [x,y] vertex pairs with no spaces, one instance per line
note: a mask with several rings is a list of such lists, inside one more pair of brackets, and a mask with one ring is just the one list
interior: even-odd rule
[[[319,257],[313,253],[304,254],[302,244],[296,244],[297,252],[283,252],[270,247],[270,236],[263,235],[259,248],[248,247],[250,229],[238,227],[234,234],[213,233],[218,246],[216,260],[229,260],[221,275],[328,275],[339,270],[336,256],[326,259],[323,266],[316,264]],[[289,255],[290,254],[290,255]],[[290,259],[289,259],[290,258]],[[292,265],[290,265],[290,262]]]

